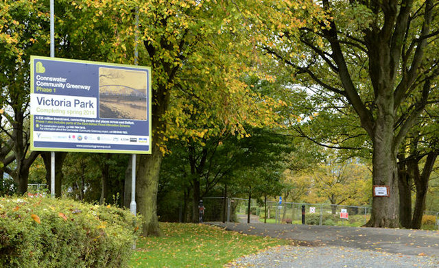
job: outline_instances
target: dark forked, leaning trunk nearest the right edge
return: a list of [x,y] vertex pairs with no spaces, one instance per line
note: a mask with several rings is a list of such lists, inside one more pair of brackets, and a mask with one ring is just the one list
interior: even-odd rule
[[414,206],[413,219],[412,219],[413,229],[420,229],[420,227],[422,226],[422,219],[425,210],[425,199],[427,197],[427,190],[428,190],[428,182],[437,156],[438,154],[436,152],[431,152],[428,154],[427,160],[425,160],[425,165],[422,175],[419,175],[417,162],[415,163],[416,165],[412,166],[416,175],[414,178],[414,182],[416,186],[416,199],[415,199],[415,206]]

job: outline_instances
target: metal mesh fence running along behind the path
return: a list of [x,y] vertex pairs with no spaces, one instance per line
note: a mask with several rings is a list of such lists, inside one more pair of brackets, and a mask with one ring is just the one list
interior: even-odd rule
[[[257,202],[242,198],[204,198],[204,221],[250,223],[292,223],[320,226],[364,226],[372,209],[368,206],[306,204],[268,201]],[[423,229],[439,230],[439,212],[425,211]]]

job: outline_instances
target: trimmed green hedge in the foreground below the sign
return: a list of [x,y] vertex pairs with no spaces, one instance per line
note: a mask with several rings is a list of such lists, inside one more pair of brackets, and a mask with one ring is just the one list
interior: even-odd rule
[[123,267],[140,219],[69,199],[0,199],[0,267]]

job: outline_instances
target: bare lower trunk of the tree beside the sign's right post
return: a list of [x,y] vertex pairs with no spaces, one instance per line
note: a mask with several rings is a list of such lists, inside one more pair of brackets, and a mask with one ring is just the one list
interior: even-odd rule
[[137,212],[143,217],[143,236],[161,236],[157,217],[158,175],[163,154],[153,142],[152,154],[141,155],[136,179]]

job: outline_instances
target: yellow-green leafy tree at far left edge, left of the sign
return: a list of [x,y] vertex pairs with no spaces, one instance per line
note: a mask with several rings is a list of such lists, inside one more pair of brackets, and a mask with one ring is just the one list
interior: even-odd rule
[[[18,185],[19,193],[27,191],[29,167],[39,152],[29,152],[29,55],[39,53],[44,45],[37,38],[47,38],[40,14],[42,3],[28,5],[26,1],[6,1],[0,4],[0,124],[8,140],[1,142],[2,172],[8,173]],[[13,154],[8,154],[12,151]],[[14,168],[10,164],[14,162]]]

